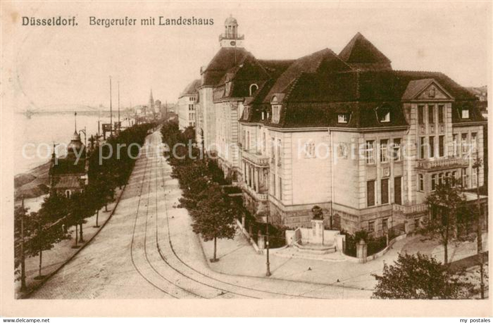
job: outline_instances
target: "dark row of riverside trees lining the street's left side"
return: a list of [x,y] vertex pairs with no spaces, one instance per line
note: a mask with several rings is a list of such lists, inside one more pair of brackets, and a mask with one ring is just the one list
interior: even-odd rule
[[[97,146],[88,155],[88,184],[80,192],[67,198],[54,191],[46,197],[37,212],[29,212],[21,206],[14,210],[14,266],[16,280],[21,280],[21,290],[26,289],[25,258],[39,256],[38,275],[42,279],[43,251],[51,250],[61,240],[70,239],[68,228],[75,226],[75,239],[72,248],[84,242],[83,224],[86,218],[96,214],[96,227],[99,227],[99,210],[114,199],[116,187],[126,184],[134,167],[136,156],[144,143],[147,131],[155,127],[153,123],[135,125],[110,137],[106,145]],[[116,154],[117,145],[130,147]],[[133,145],[131,145],[133,144]],[[111,146],[111,147],[110,147]],[[101,147],[101,151],[99,149]],[[110,149],[111,152],[110,153]],[[102,156],[109,156],[107,159]]]

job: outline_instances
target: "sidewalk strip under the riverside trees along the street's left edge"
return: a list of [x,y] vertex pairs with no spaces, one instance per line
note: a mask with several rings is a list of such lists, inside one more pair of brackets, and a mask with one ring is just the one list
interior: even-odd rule
[[[96,225],[96,215],[86,218],[86,223],[82,225],[84,243],[77,242],[79,248],[72,249],[75,240],[75,226],[71,226],[68,230],[72,235],[69,240],[62,240],[58,244],[55,244],[51,250],[43,251],[43,259],[41,263],[41,275],[44,276],[41,280],[35,280],[34,278],[38,275],[39,270],[39,255],[35,257],[26,257],[26,286],[27,291],[21,292],[21,282],[15,282],[15,293],[17,298],[24,298],[29,295],[37,287],[42,285],[51,275],[53,275],[58,269],[60,269],[65,263],[67,263],[72,256],[83,249],[91,239],[101,230],[101,228],[106,224],[106,221],[111,216],[118,200],[123,192],[124,188],[121,190],[116,188],[115,190],[115,200],[108,204],[108,211],[105,212],[105,207],[99,211],[98,225],[100,227],[95,228]],[[80,229],[80,228],[79,228]],[[79,237],[77,237],[79,239]],[[19,267],[20,270],[20,267]],[[20,274],[19,274],[20,277]]]

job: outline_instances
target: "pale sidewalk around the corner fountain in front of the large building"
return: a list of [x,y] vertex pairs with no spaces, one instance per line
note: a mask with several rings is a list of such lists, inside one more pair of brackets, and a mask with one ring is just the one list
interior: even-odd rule
[[[344,284],[345,287],[373,289],[376,281],[371,274],[381,275],[384,261],[392,264],[401,251],[408,253],[420,251],[443,261],[443,248],[439,243],[437,241],[422,242],[422,238],[421,236],[412,236],[397,241],[383,256],[366,263],[286,257],[286,254],[291,250],[287,248],[281,252],[282,256],[276,255],[275,252],[270,254],[271,278],[339,286]],[[483,238],[486,245],[487,239],[486,234]],[[207,258],[211,259],[214,248],[213,241],[204,242],[201,240],[201,242]],[[452,247],[452,244],[449,246],[451,260],[458,260],[475,254],[475,252],[475,242],[462,243],[457,247]],[[241,232],[237,232],[233,240],[217,240],[217,258],[219,259],[218,262],[209,263],[214,271],[229,275],[265,277],[266,255],[256,253]]]

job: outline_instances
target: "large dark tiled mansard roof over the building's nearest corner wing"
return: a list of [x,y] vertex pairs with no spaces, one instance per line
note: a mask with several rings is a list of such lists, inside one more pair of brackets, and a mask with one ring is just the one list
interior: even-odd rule
[[[452,120],[454,123],[484,121],[473,108],[477,103],[474,95],[458,85],[448,76],[438,72],[414,71],[345,71],[326,73],[303,72],[289,87],[284,97],[280,122],[271,119],[261,120],[262,111],[270,111],[270,104],[253,101],[246,122],[262,122],[273,127],[388,127],[406,126],[402,111],[402,96],[409,84],[420,85],[423,79],[436,81],[453,98]],[[420,86],[422,86],[421,84]],[[414,86],[412,86],[415,88]],[[264,90],[261,89],[258,95]],[[390,122],[381,123],[377,109],[386,106],[390,109]],[[460,109],[469,107],[470,118],[460,119]],[[337,121],[339,113],[349,113],[347,124]],[[272,114],[272,113],[271,113]]]

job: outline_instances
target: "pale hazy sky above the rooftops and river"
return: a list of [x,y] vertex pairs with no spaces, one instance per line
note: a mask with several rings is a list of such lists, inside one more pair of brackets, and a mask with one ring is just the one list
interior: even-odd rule
[[[232,14],[245,47],[260,59],[339,53],[361,32],[395,70],[444,72],[464,86],[486,85],[491,2],[15,2],[2,23],[14,110],[113,107],[179,93],[219,50]],[[23,27],[22,16],[76,16],[76,27]],[[209,26],[90,26],[89,17],[213,19]],[[157,19],[157,18],[156,18]],[[6,47],[5,47],[6,46]]]

